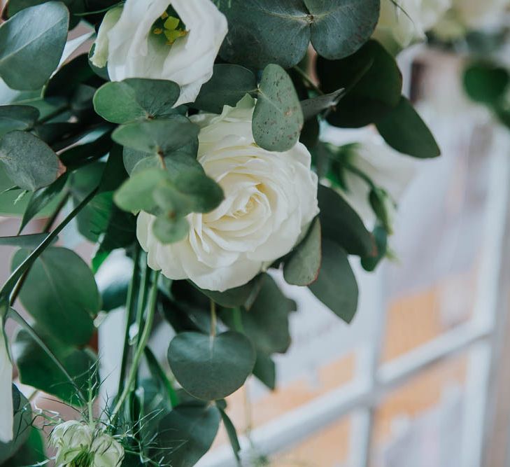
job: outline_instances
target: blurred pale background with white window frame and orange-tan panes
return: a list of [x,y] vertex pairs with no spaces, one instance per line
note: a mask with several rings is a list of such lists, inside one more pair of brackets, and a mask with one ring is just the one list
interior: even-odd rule
[[[246,465],[510,466],[510,131],[463,92],[467,60],[466,50],[423,43],[399,55],[406,95],[442,156],[416,165],[399,200],[393,259],[375,274],[353,263],[353,323],[275,274],[298,310],[277,389],[253,379],[228,400]],[[323,130],[344,141],[343,130]],[[1,218],[0,234],[15,235],[18,222]],[[62,242],[90,258],[76,230]],[[12,252],[1,249],[0,281]],[[118,366],[121,323],[122,310],[109,314],[99,335],[106,375]],[[153,336],[160,356],[170,332],[162,323]],[[65,410],[45,396],[36,403]],[[236,466],[225,431],[199,466]]]

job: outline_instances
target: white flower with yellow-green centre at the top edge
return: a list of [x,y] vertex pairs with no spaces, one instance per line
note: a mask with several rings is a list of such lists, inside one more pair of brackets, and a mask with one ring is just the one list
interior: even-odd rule
[[106,15],[92,62],[101,65],[108,57],[112,81],[175,81],[181,88],[177,106],[193,102],[211,79],[226,35],[227,20],[211,0],[127,0]]

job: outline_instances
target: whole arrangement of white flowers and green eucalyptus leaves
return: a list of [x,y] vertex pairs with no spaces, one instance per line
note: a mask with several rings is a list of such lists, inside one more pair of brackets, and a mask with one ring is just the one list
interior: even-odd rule
[[[225,398],[252,376],[274,389],[290,345],[295,303],[274,274],[352,321],[350,262],[389,256],[416,160],[440,154],[395,54],[454,3],[8,2],[0,211],[20,228],[0,238],[18,248],[0,288],[0,463],[192,466],[220,423],[239,459]],[[62,244],[71,228],[94,244],[90,264]],[[119,250],[129,271],[99,288]],[[118,307],[118,391],[101,398],[93,337]],[[175,332],[165,364],[157,319]],[[77,419],[29,403],[13,365]]]

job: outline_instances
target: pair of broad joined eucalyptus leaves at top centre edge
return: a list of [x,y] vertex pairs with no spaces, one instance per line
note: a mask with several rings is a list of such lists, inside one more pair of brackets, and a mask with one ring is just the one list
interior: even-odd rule
[[379,6],[379,0],[222,2],[229,34],[220,54],[248,67],[273,63],[290,68],[302,60],[311,41],[319,55],[346,57],[374,32]]

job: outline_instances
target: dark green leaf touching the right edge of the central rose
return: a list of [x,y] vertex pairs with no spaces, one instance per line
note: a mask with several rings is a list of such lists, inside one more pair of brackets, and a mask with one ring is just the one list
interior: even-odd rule
[[337,243],[351,255],[376,254],[374,238],[360,216],[341,195],[331,188],[319,185],[318,201],[323,238]]

